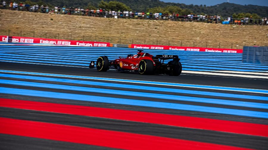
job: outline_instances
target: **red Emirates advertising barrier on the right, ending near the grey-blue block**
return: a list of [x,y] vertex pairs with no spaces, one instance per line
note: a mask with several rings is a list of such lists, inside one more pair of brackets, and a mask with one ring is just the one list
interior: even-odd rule
[[179,47],[179,46],[145,45],[145,44],[131,44],[131,48],[138,48],[138,49],[157,49],[157,50],[182,50],[182,51],[196,51],[196,52],[243,53],[243,50],[240,50],[240,49],[205,48],[205,47]]

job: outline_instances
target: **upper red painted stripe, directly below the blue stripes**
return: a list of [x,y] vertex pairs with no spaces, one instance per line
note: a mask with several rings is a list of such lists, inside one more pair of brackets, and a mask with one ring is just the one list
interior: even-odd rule
[[110,108],[0,98],[0,107],[30,109],[268,137],[268,125]]

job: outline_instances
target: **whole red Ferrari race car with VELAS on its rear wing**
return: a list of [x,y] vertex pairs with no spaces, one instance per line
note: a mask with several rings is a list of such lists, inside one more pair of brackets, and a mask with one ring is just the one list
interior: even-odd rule
[[[101,56],[96,61],[97,71],[107,71],[114,67],[119,72],[138,72],[139,74],[166,74],[170,76],[179,76],[182,71],[182,65],[177,55],[150,55],[138,50],[136,55],[129,54],[127,58],[115,59],[109,61],[107,56]],[[164,63],[164,60],[170,60]],[[95,62],[91,61],[89,68],[95,68]]]

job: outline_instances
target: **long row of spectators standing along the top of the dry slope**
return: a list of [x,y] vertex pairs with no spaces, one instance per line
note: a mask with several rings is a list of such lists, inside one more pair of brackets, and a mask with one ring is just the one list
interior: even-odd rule
[[[206,23],[225,23],[234,25],[268,25],[267,17],[262,19],[253,19],[252,16],[244,18],[221,18],[219,15],[180,15],[178,13],[163,14],[161,12],[134,12],[134,11],[114,11],[105,9],[84,9],[80,7],[59,7],[49,8],[48,6],[39,6],[38,4],[30,6],[29,4],[5,1],[1,3],[3,9],[40,12],[47,14],[63,14],[63,15],[82,15],[92,17],[107,17],[107,18],[129,18],[129,19],[149,19],[149,20],[172,20],[172,21],[192,21],[192,22],[206,22]],[[7,8],[8,5],[8,8]]]

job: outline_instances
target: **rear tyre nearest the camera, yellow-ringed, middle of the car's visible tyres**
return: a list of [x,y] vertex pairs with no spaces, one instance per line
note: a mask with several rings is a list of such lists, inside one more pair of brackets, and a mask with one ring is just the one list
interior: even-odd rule
[[151,75],[154,73],[154,64],[152,60],[143,59],[140,61],[138,66],[139,74]]

